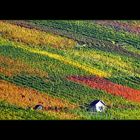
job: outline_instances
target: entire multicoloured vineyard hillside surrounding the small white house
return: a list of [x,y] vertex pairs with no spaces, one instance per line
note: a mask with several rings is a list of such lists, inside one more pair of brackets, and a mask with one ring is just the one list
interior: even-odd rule
[[140,119],[140,21],[1,20],[0,119]]

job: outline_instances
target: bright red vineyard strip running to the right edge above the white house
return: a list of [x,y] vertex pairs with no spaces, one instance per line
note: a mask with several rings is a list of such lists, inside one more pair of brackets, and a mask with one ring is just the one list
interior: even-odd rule
[[95,89],[104,90],[110,94],[122,96],[128,100],[140,102],[140,90],[115,84],[100,77],[71,76],[69,80],[79,82]]

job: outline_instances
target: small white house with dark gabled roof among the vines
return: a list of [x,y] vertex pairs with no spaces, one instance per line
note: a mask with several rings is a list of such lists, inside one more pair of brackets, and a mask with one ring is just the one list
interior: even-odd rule
[[95,100],[90,103],[89,110],[93,112],[104,112],[106,109],[106,104],[101,100]]

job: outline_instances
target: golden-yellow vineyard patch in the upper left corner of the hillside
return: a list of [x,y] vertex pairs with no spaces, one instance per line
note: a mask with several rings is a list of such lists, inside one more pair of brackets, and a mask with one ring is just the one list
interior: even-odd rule
[[27,44],[48,45],[55,48],[71,48],[76,45],[75,41],[65,37],[20,27],[3,21],[0,21],[0,32],[5,38]]

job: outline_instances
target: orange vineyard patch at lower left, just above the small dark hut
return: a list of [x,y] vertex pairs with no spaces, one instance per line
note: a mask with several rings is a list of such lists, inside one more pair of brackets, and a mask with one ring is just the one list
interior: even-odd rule
[[10,82],[0,80],[0,99],[6,100],[20,107],[34,107],[36,104],[47,106],[74,108],[76,105],[67,101],[39,93],[36,90],[16,86]]

